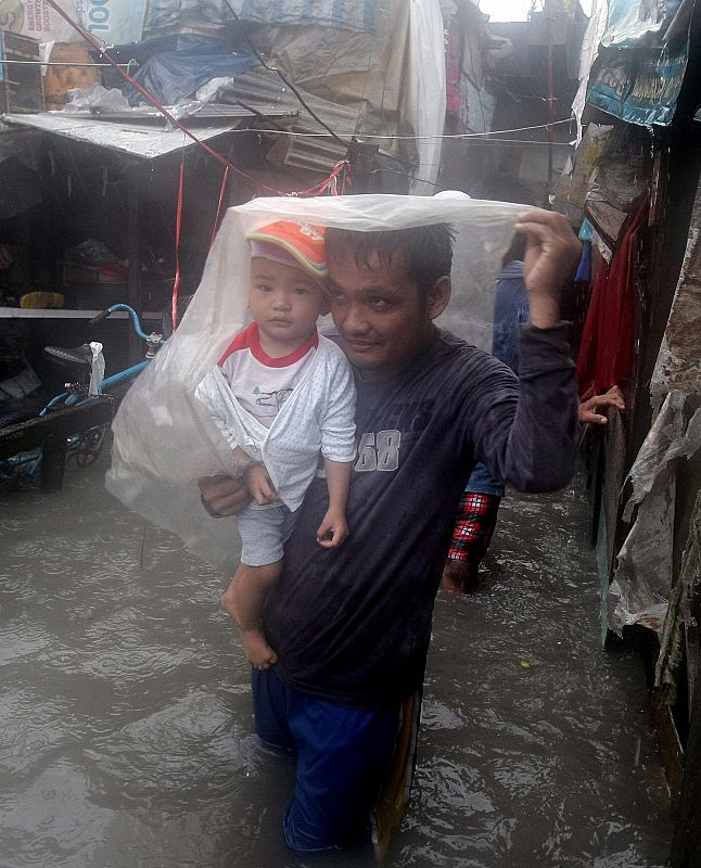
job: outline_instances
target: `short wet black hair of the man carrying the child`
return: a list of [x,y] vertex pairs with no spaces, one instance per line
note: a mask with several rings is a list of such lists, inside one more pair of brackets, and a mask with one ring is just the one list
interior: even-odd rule
[[372,268],[377,255],[383,266],[404,257],[409,280],[417,284],[422,296],[433,284],[450,275],[455,229],[450,224],[429,224],[408,229],[359,232],[353,229],[327,229],[327,258],[336,250],[349,254],[357,265]]

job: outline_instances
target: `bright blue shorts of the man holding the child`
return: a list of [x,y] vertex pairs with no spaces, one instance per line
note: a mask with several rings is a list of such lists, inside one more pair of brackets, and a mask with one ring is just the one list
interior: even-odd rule
[[256,731],[297,755],[294,799],[283,820],[295,851],[370,840],[370,815],[392,763],[400,709],[348,709],[286,687],[275,666],[253,671]]

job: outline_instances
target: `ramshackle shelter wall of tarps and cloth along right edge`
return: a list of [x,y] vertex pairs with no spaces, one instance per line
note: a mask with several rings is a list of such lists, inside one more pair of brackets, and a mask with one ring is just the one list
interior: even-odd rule
[[626,397],[622,418],[588,432],[591,532],[609,636],[650,651],[675,868],[701,854],[699,12],[688,0],[599,4],[573,104],[578,146],[556,190],[594,239],[581,385]]

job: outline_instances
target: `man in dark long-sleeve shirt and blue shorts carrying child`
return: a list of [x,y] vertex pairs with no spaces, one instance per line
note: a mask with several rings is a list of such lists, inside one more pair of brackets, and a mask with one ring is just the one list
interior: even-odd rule
[[[403,716],[420,705],[434,598],[475,461],[521,490],[557,489],[573,472],[577,388],[559,292],[579,245],[558,214],[525,213],[517,228],[531,307],[518,379],[433,323],[450,297],[449,227],[327,231],[331,314],[357,388],[353,536],[333,551],[317,544],[329,494],[314,480],[263,613],[278,660],[253,681],[259,736],[297,756],[283,822],[293,850],[368,834]],[[222,515],[248,497],[234,478],[200,488]]]

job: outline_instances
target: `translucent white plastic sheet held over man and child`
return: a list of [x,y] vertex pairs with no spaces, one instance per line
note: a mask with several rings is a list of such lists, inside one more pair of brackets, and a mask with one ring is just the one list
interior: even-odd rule
[[[113,423],[107,488],[217,566],[238,554],[234,519],[202,508],[196,480],[227,473],[231,452],[194,391],[247,323],[251,255],[245,233],[278,219],[359,231],[450,222],[454,294],[437,324],[492,346],[494,281],[523,205],[469,199],[358,195],[258,199],[230,208],[202,282],[174,336],[131,386]],[[332,327],[321,323],[321,331]]]

